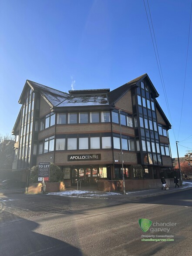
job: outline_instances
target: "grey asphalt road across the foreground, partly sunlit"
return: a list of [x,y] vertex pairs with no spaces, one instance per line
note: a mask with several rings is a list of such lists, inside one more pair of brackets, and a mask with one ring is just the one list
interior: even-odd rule
[[[191,256],[191,207],[192,189],[132,200],[126,195],[121,199],[1,196],[0,255]],[[147,232],[139,227],[142,218],[152,221]],[[170,222],[174,226],[158,226]],[[147,239],[142,236],[165,235],[174,241],[141,241]]]

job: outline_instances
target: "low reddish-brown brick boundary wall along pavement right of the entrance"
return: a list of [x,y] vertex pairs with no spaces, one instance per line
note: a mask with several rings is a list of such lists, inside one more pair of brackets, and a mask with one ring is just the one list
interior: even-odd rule
[[[169,187],[174,186],[173,179],[166,179]],[[139,180],[125,180],[125,190],[140,190],[140,189],[161,189],[161,179],[139,179]],[[100,191],[123,191],[122,180],[98,181],[98,190]]]

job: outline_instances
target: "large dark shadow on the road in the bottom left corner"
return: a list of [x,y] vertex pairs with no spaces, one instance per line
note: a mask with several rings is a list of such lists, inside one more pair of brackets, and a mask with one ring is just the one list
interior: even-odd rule
[[36,222],[9,214],[0,223],[0,255],[3,256],[85,256],[80,249],[58,239],[38,234]]

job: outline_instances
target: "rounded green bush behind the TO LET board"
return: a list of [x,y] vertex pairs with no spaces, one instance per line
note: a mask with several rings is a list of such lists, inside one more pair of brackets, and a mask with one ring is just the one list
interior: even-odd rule
[[[64,180],[63,171],[54,163],[50,163],[50,176],[49,182],[62,182]],[[38,166],[35,165],[30,169],[30,176],[29,176],[30,183],[38,182]]]

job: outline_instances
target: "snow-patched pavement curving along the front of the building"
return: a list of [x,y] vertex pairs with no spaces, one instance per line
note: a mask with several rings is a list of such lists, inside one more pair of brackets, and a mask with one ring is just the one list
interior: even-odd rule
[[70,196],[70,197],[79,197],[79,198],[103,198],[103,199],[137,199],[155,195],[164,195],[179,192],[182,190],[192,189],[192,182],[183,182],[183,185],[179,188],[169,187],[168,190],[165,190],[160,187],[157,189],[144,189],[144,190],[136,190],[136,191],[126,191],[125,195],[122,192],[101,192],[96,188],[91,187],[81,187],[81,189],[77,190],[75,188],[66,188],[61,192],[53,192],[48,193],[47,195],[61,195],[61,196]]

